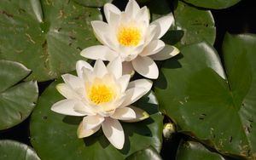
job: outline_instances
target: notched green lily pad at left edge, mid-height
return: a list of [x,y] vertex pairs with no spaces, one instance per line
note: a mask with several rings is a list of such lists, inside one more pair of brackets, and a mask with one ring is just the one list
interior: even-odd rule
[[0,130],[23,122],[38,100],[38,84],[20,83],[31,71],[20,63],[0,60]]

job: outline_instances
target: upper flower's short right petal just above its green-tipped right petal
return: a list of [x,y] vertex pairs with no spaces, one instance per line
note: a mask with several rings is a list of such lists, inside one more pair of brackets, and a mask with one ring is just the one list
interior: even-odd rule
[[161,49],[164,49],[165,43],[161,40],[154,40],[143,49],[141,56],[148,56],[158,53]]

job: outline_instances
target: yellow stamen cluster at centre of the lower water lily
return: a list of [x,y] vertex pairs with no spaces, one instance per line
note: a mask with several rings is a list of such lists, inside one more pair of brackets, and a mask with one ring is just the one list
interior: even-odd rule
[[96,105],[108,102],[113,99],[113,90],[109,89],[106,85],[93,85],[90,88],[90,100]]

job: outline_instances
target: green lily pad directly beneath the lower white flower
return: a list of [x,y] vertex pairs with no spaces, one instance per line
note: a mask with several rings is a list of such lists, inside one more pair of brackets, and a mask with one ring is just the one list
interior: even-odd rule
[[68,117],[50,110],[56,101],[63,99],[55,89],[57,83],[61,81],[51,83],[44,91],[32,113],[32,146],[42,159],[124,159],[147,146],[154,146],[160,151],[163,117],[156,112],[154,94],[148,94],[137,102],[137,106],[148,108],[146,111],[152,114],[148,119],[139,123],[122,123],[125,146],[118,150],[108,142],[102,131],[79,139],[76,133],[82,117]]

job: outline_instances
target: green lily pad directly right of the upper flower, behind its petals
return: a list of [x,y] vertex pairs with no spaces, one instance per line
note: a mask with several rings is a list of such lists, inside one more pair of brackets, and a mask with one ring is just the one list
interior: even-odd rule
[[213,45],[215,42],[216,28],[211,11],[197,9],[178,1],[174,18],[177,30],[184,31],[180,42],[182,45],[201,41],[207,41]]

